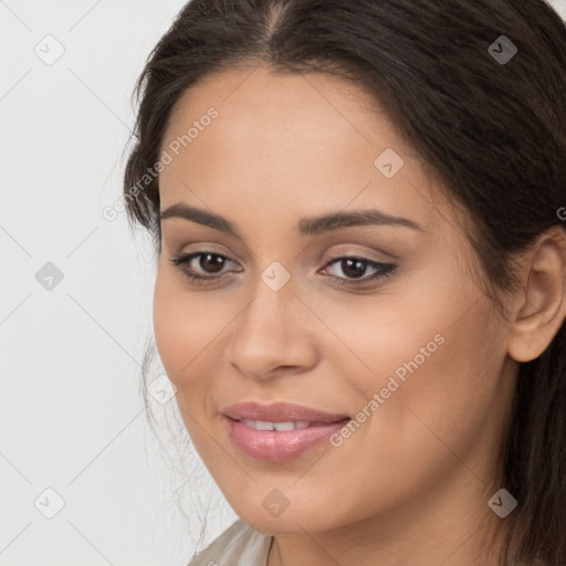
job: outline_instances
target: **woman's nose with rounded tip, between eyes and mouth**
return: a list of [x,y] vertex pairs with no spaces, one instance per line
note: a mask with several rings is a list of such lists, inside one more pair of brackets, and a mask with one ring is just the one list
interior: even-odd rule
[[317,358],[313,314],[290,283],[273,291],[260,281],[255,291],[234,322],[230,364],[259,380],[312,368]]

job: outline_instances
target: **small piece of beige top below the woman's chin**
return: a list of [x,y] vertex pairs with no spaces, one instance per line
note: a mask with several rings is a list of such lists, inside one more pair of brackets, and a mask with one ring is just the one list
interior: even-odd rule
[[198,553],[188,566],[266,566],[272,536],[250,528],[241,518]]

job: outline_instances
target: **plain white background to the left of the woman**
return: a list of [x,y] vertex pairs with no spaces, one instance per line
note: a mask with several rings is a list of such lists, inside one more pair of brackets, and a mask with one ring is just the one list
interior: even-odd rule
[[[153,251],[125,212],[102,213],[122,193],[134,82],[184,4],[0,0],[0,566],[186,566],[200,516],[199,548],[235,518],[177,454],[175,401],[150,400],[172,432],[148,424]],[[64,48],[52,65],[34,52],[48,34]],[[35,279],[48,262],[52,290]],[[48,488],[64,501],[52,518]]]

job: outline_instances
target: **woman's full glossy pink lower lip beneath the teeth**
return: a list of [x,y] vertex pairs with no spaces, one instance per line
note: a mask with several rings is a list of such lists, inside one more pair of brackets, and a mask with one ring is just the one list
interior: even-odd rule
[[233,443],[247,455],[269,462],[283,462],[296,458],[327,440],[340,430],[348,419],[306,429],[256,430],[238,420],[226,418]]

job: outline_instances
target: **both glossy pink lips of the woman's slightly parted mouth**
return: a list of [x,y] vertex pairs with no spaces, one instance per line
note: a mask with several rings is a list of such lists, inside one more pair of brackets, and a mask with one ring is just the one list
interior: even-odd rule
[[[222,415],[234,446],[251,458],[270,462],[282,462],[303,454],[327,440],[349,420],[347,415],[287,402],[262,405],[245,401],[227,407]],[[310,426],[289,431],[256,430],[242,420],[308,421]]]

